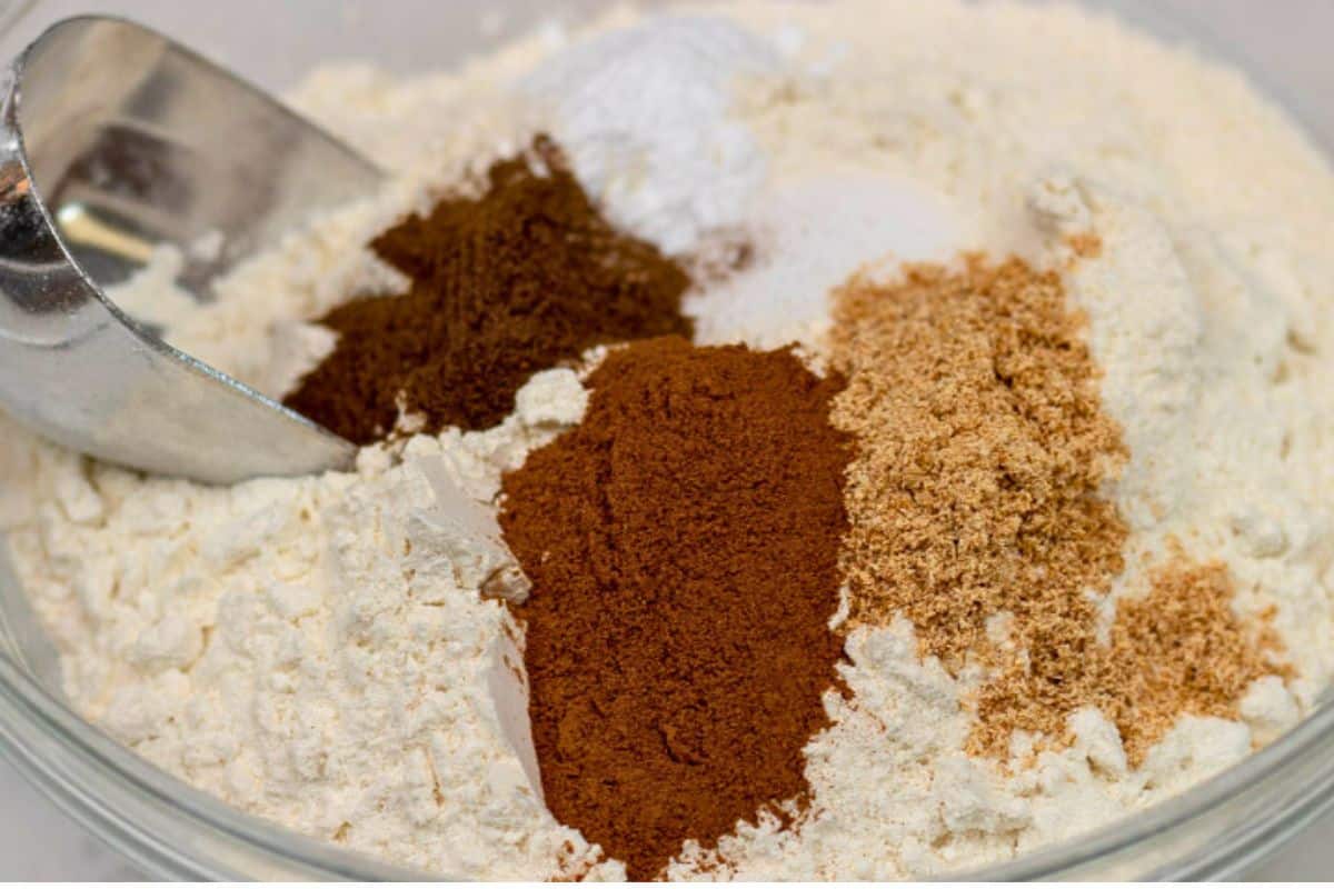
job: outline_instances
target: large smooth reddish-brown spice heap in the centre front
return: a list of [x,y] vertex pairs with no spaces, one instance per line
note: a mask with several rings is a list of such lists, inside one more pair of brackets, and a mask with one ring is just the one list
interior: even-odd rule
[[530,713],[552,813],[648,880],[802,800],[842,637],[840,380],[790,352],[616,349],[584,421],[504,478],[532,580]]

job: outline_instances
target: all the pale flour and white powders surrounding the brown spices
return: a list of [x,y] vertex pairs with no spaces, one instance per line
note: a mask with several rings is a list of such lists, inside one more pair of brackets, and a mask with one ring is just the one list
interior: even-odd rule
[[[795,829],[739,825],[716,852],[687,848],[671,874],[895,878],[1005,860],[1178,793],[1291,726],[1334,674],[1323,161],[1237,73],[1074,9],[728,9],[748,31],[647,23],[574,47],[547,33],[402,83],[364,65],[316,72],[296,104],[408,172],[239,269],[172,341],[281,393],[328,348],[303,319],[402,287],[368,236],[548,125],[608,215],[664,249],[738,228],[755,240],[751,267],[690,299],[707,341],[818,349],[826,289],[862,263],[982,248],[1065,264],[1065,237],[1095,233],[1102,252],[1069,287],[1133,452],[1109,490],[1133,532],[1111,598],[1142,592],[1138,553],[1177,537],[1227,561],[1239,612],[1277,609],[1301,678],[1257,682],[1243,722],[1183,717],[1135,770],[1085,710],[1070,749],[1006,773],[962,753],[975,677],[922,662],[906,622],[858,630],[855,694],[828,696],[834,725],[807,750],[810,812]],[[69,697],[151,761],[396,864],[543,878],[595,850],[534,789],[522,688],[498,668],[508,620],[478,592],[495,565],[432,520],[430,473],[487,502],[499,470],[576,421],[583,397],[570,375],[544,375],[495,431],[233,489],[143,481],[7,428],[0,518]],[[1031,745],[1015,738],[1017,765]]]

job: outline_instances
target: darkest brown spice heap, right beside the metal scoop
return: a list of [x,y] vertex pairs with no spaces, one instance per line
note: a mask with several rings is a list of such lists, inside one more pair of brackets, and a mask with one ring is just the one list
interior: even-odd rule
[[588,347],[691,333],[686,272],[614,231],[543,136],[495,163],[482,197],[446,199],[371,247],[408,292],[324,316],[338,345],[285,399],[358,444],[403,412],[426,432],[486,429],[530,376]]

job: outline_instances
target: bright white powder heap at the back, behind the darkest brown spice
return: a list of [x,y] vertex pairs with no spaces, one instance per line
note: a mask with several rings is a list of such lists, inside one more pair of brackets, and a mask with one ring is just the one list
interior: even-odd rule
[[779,69],[767,40],[726,19],[659,17],[576,43],[523,88],[611,220],[676,256],[744,221],[764,153],[732,91]]

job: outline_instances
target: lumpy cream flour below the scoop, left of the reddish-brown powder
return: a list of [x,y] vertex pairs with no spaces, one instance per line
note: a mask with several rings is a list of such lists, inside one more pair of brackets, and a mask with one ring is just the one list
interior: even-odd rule
[[550,371],[486,433],[235,488],[141,481],[7,428],[36,468],[11,550],[69,697],[191,784],[390,861],[523,878],[594,860],[542,805],[518,630],[479,596],[496,565],[431,485],[491,502],[584,403]]

